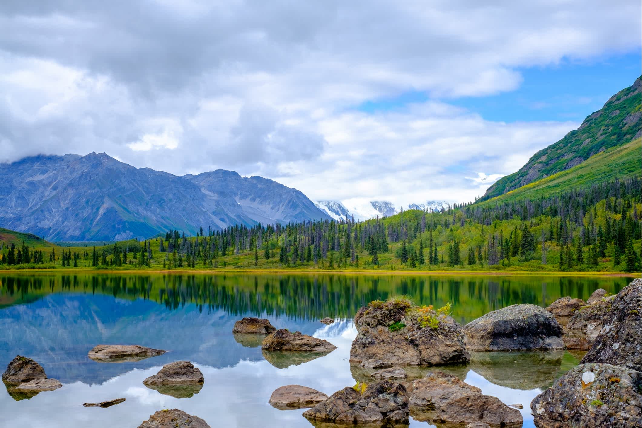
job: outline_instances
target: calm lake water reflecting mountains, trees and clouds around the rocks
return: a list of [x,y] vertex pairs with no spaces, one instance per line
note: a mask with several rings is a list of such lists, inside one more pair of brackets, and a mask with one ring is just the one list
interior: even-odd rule
[[[464,324],[512,304],[546,307],[562,296],[585,300],[597,288],[617,293],[632,278],[453,275],[181,275],[137,273],[6,273],[0,271],[0,368],[15,355],[40,363],[63,387],[16,400],[0,392],[0,426],[137,427],[160,409],[178,408],[212,427],[311,427],[304,411],[268,404],[279,386],[301,384],[331,395],[367,381],[349,364],[352,316],[371,300],[407,295],[416,304],[453,304]],[[261,352],[260,340],[235,336],[243,316],[268,318],[338,347],[305,361]],[[318,320],[338,320],[324,325]],[[96,363],[95,345],[138,344],[168,350],[135,363]],[[578,352],[473,353],[458,375],[506,404],[530,401],[578,364]],[[142,381],[171,361],[189,360],[205,376],[202,389],[177,398]],[[0,385],[1,387],[1,385]],[[101,409],[84,402],[126,398]],[[410,427],[429,427],[411,420]]]

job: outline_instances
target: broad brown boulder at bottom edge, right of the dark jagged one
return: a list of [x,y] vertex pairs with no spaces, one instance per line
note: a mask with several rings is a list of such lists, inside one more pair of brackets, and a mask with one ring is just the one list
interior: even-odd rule
[[491,427],[521,427],[519,410],[499,398],[483,395],[482,390],[458,377],[443,372],[430,372],[412,382],[410,415],[429,424],[473,424]]

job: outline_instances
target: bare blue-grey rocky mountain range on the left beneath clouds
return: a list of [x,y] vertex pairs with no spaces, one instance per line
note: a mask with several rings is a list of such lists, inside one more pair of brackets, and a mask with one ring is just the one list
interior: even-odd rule
[[0,175],[0,225],[48,241],[330,219],[304,194],[272,180],[223,170],[181,177],[105,153],[28,157],[0,164]]

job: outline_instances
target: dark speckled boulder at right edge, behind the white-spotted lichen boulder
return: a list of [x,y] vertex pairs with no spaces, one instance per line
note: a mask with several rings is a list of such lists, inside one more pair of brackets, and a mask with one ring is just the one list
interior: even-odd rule
[[636,278],[613,299],[602,330],[582,363],[608,363],[642,371],[642,279]]

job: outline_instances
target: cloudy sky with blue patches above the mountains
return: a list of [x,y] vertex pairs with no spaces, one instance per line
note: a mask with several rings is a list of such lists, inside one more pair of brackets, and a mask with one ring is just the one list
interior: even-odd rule
[[642,74],[639,0],[0,2],[0,162],[472,201]]

